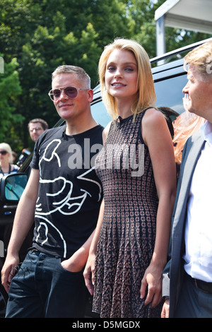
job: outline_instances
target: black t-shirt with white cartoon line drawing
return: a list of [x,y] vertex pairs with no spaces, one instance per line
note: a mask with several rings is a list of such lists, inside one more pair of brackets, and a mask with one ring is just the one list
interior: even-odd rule
[[65,128],[49,129],[38,138],[30,166],[40,170],[33,247],[69,258],[98,220],[102,186],[94,160],[102,148],[103,127],[73,136]]

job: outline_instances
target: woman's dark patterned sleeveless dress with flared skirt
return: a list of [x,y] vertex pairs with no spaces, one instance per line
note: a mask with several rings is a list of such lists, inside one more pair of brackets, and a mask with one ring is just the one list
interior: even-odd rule
[[93,312],[102,318],[160,317],[140,299],[153,254],[158,196],[148,147],[141,136],[143,111],[112,121],[96,159],[105,212],[95,263]]

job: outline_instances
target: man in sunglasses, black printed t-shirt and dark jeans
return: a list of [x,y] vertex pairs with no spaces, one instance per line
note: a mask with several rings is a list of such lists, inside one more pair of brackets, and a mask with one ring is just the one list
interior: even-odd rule
[[[94,160],[103,128],[91,115],[93,90],[83,69],[59,66],[49,97],[66,125],[45,131],[35,144],[2,269],[6,317],[79,318],[86,306],[83,267],[102,199]],[[18,269],[18,251],[34,222],[33,247]]]

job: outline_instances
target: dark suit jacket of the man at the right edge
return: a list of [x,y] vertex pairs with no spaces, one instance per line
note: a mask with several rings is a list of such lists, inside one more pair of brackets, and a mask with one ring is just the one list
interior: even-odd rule
[[204,143],[204,139],[198,132],[188,139],[182,154],[182,164],[172,214],[170,260],[163,271],[163,296],[170,297],[170,317],[173,317],[175,312],[184,278],[182,255],[184,254],[184,225],[187,217],[187,200],[196,162],[199,159]]

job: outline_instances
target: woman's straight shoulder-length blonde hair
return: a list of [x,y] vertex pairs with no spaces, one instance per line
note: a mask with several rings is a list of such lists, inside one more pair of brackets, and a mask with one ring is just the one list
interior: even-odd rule
[[153,83],[153,76],[151,72],[151,63],[149,61],[148,54],[145,49],[134,40],[125,40],[122,38],[117,38],[112,44],[109,44],[105,47],[102,55],[100,57],[98,71],[100,77],[100,86],[102,91],[102,101],[107,108],[107,111],[110,113],[112,119],[115,119],[118,116],[117,105],[114,100],[114,97],[107,93],[105,88],[105,71],[107,65],[107,59],[110,57],[110,54],[114,49],[121,49],[125,51],[132,52],[136,58],[138,65],[138,93],[136,98],[131,105],[131,112],[133,114],[139,114],[146,109],[147,107],[155,105],[155,87]]

